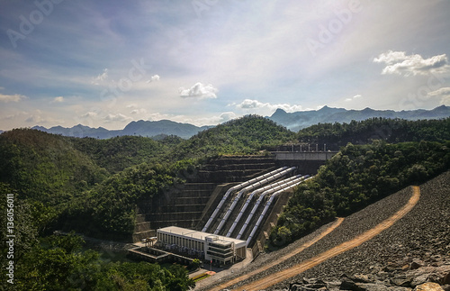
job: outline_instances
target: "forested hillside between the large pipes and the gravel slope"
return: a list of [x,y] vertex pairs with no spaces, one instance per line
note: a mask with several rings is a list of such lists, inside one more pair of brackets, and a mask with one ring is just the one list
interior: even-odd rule
[[275,229],[284,246],[335,216],[347,216],[401,188],[419,185],[450,168],[450,141],[347,144],[310,181],[298,186]]

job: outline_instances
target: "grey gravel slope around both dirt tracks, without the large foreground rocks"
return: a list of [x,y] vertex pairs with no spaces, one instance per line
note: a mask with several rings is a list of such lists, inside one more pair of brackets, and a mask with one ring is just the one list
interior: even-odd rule
[[[448,226],[450,225],[450,172],[446,172],[420,186],[420,190],[421,196],[418,205],[390,229],[382,232],[373,240],[366,241],[361,246],[329,259],[297,277],[271,287],[269,290],[286,290],[291,283],[302,282],[304,277],[336,281],[343,274],[374,274],[375,276],[383,272],[383,268],[390,263],[392,264],[392,262],[401,265],[409,263],[412,259],[422,259],[426,263],[432,263],[433,259],[437,259],[437,256],[441,260],[448,260],[450,258],[450,231]],[[269,268],[249,280],[240,282],[236,286],[242,286],[260,277],[292,267],[305,259],[311,259],[321,252],[373,228],[405,205],[411,193],[411,188],[407,187],[392,196],[365,207],[356,214],[347,216],[338,229],[329,233],[327,237],[318,241],[311,248],[304,250],[283,264]],[[327,226],[325,225],[322,228]],[[260,268],[266,262],[293,251],[305,241],[311,240],[318,232],[313,232],[301,240],[293,242],[283,250],[259,255],[245,271],[235,274],[233,277]],[[450,260],[448,261],[450,262]],[[207,289],[204,288],[204,290]]]

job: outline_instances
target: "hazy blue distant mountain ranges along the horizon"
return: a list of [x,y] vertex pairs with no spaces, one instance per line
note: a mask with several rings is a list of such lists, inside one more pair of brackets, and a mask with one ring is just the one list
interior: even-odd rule
[[[306,128],[317,123],[350,123],[352,120],[363,121],[369,118],[400,118],[405,120],[420,119],[441,119],[450,117],[450,106],[442,105],[433,110],[411,110],[396,112],[393,110],[374,110],[365,108],[364,110],[347,110],[344,108],[331,108],[324,106],[320,110],[302,111],[286,113],[283,109],[277,109],[274,114],[267,116],[268,119],[283,125],[293,132]],[[189,123],[175,123],[169,120],[138,121],[131,122],[123,130],[110,131],[103,127],[92,128],[78,124],[71,128],[54,126],[49,129],[42,126],[34,126],[33,129],[42,132],[61,134],[74,137],[93,137],[98,139],[108,139],[123,135],[140,135],[154,137],[157,135],[176,135],[188,139],[198,132],[209,129],[213,126],[195,126]],[[1,133],[1,132],[0,132]]]

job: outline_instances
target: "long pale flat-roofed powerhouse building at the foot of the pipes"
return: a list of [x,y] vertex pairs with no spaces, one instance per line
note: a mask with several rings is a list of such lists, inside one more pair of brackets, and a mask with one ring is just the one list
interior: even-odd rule
[[246,258],[246,241],[177,226],[158,229],[157,241],[166,246],[202,253],[205,260],[221,265]]

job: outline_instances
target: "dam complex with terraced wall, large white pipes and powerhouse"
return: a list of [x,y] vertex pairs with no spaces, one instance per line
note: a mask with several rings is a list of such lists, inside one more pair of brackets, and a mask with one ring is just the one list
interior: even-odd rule
[[278,151],[267,156],[211,159],[186,174],[186,183],[141,201],[133,241],[157,237],[158,246],[195,253],[217,264],[255,257],[292,195],[336,152]]

